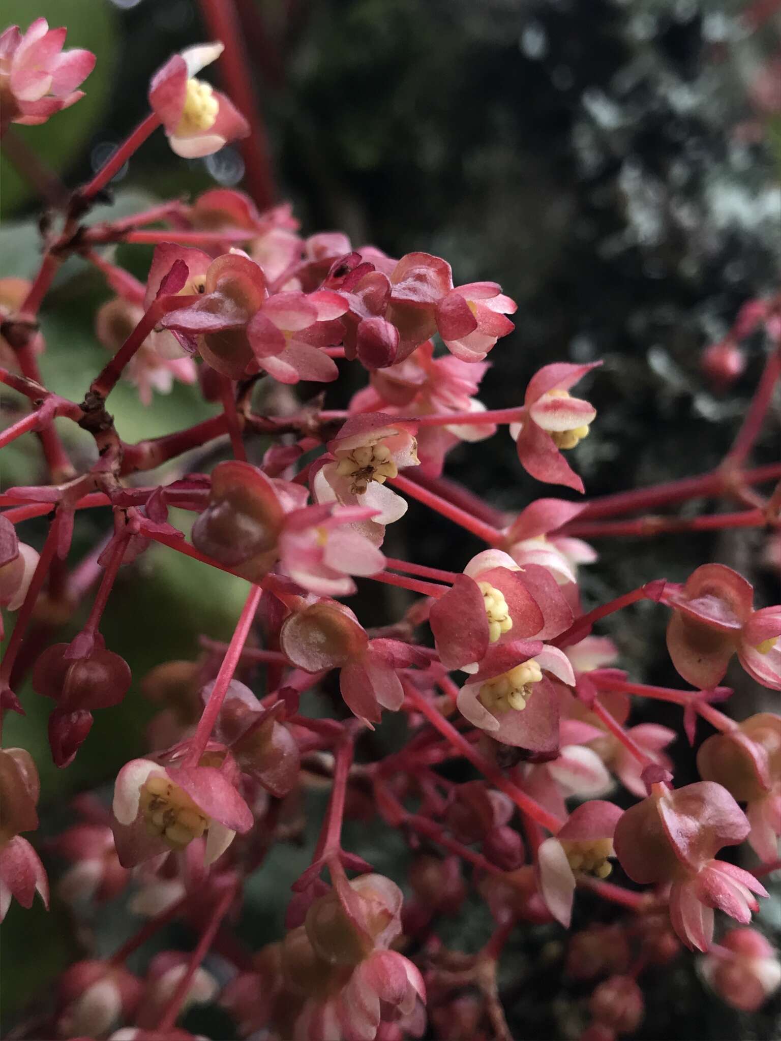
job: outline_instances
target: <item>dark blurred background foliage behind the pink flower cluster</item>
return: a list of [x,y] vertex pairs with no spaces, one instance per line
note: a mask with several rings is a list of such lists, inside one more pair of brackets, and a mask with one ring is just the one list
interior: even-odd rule
[[[490,356],[481,392],[489,407],[518,404],[541,364],[603,358],[584,389],[599,416],[574,454],[588,494],[705,473],[719,462],[746,411],[766,344],[757,335],[746,345],[746,373],[724,397],[704,379],[701,352],[724,335],[744,302],[778,289],[780,117],[749,102],[752,82],[778,50],[772,25],[750,32],[738,18],[744,4],[735,0],[238,0],[238,7],[280,198],[294,201],[304,233],[341,228],[356,246],[371,242],[392,255],[440,254],[453,264],[456,284],[500,281],[519,311],[515,333]],[[81,138],[59,156],[70,184],[85,179],[100,149],[144,116],[154,69],[204,37],[192,0],[118,0],[116,6],[76,0],[79,8],[107,20],[111,68],[102,81],[102,116],[98,105]],[[83,43],[76,35],[72,42]],[[100,69],[104,55],[98,58]],[[50,126],[53,133],[55,121]],[[34,147],[47,134],[49,128],[26,139]],[[185,163],[157,134],[118,183],[118,198],[127,185],[165,198],[197,193],[215,177],[232,183],[238,161],[226,150],[207,162]],[[16,218],[34,211],[18,196],[12,204]],[[148,254],[121,251],[121,260],[143,274]],[[78,327],[83,341],[91,332],[79,315],[105,294],[89,276],[78,278],[78,314],[72,301],[61,300],[62,290],[59,299],[55,290],[54,305],[64,315],[58,328]],[[86,364],[87,353],[78,357]],[[122,399],[130,429],[158,432],[144,428],[131,397]],[[171,403],[172,428],[183,414],[196,414],[187,392]],[[161,407],[158,398],[150,415]],[[120,429],[127,436],[128,428]],[[777,430],[778,408],[755,453],[758,463],[778,457]],[[559,494],[521,474],[512,442],[501,433],[456,450],[447,472],[508,510],[540,493]],[[696,502],[681,512],[720,508],[731,507]],[[421,563],[457,567],[480,549],[414,506],[397,527],[402,530],[388,532],[389,552]],[[742,570],[757,582],[758,600],[769,603],[777,577],[758,563],[764,537],[740,531],[601,540],[600,563],[581,572],[585,606],[652,578],[680,581],[707,560]],[[162,559],[155,558],[151,572],[147,565],[153,593],[133,592],[135,618],[146,607],[152,612],[149,632],[141,620],[128,632],[121,615],[107,618],[116,649],[134,667],[140,641],[147,667],[194,650],[188,617],[177,618],[173,633],[160,630],[165,643],[156,636],[157,619],[173,616],[194,588],[192,580],[180,582],[181,569],[175,578],[163,573]],[[229,631],[230,603],[219,618],[188,608],[195,624],[216,635]],[[386,619],[388,603],[373,589],[361,590],[354,606],[371,625]],[[663,650],[663,613],[625,612],[603,631],[620,644],[622,665],[634,676],[676,685]],[[730,680],[740,716],[767,705],[746,677]],[[639,718],[680,722],[663,706],[643,709]],[[116,723],[102,726],[115,746]],[[119,755],[141,751],[132,747],[138,730],[136,719],[122,735]],[[17,733],[24,735],[21,728]],[[675,751],[680,783],[695,780],[682,738]],[[80,783],[110,776],[105,759],[85,763]],[[394,873],[401,857],[396,837],[380,831],[371,841],[376,856],[363,846],[361,853]],[[300,850],[292,856],[301,860]],[[279,899],[292,862],[272,857],[261,873],[267,870],[250,888],[242,925],[255,943],[274,938],[279,928],[269,899]],[[576,925],[613,912],[583,898],[577,914]],[[765,911],[767,928],[775,916]],[[47,921],[34,928],[62,932],[56,917]],[[479,902],[465,922],[447,928],[449,942],[475,949],[487,929]],[[110,939],[101,942],[110,949]],[[544,931],[541,939],[519,930],[508,946],[502,982],[513,1036],[577,1036],[588,988],[563,980],[562,949],[557,930]],[[644,986],[648,1015],[637,1038],[778,1035],[773,1008],[738,1016],[706,996],[691,959],[651,971]],[[186,1024],[211,1030],[212,1037],[230,1029],[222,1020],[209,1027],[196,1013]]]

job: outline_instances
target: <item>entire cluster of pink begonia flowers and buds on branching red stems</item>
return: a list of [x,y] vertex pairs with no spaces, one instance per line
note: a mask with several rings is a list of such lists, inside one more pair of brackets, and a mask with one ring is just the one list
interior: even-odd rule
[[[0,35],[3,130],[44,123],[81,96],[94,57],[62,51],[64,40],[65,29],[43,19]],[[455,446],[507,426],[528,474],[583,492],[564,453],[577,457],[597,412],[571,389],[598,379],[599,362],[546,364],[522,404],[487,410],[477,397],[486,357],[512,331],[515,304],[495,282],[454,285],[442,257],[394,258],[354,248],[341,232],[303,237],[288,206],[259,209],[240,191],[78,224],[157,128],[190,159],[231,141],[251,145],[252,113],[197,78],[233,52],[227,40],[171,57],[150,83],[149,116],[74,193],[34,281],[0,282],[0,382],[31,403],[0,447],[34,432],[48,467],[44,483],[0,497],[0,607],[15,619],[0,711],[24,713],[29,670],[33,690],[54,703],[56,766],[94,740],[93,713],[126,699],[136,668],[106,646],[103,612],[120,569],[137,570],[152,543],[246,587],[228,643],[201,634],[197,660],[159,661],[144,678],[159,712],[138,750],[146,754],[119,770],[110,809],[100,793],[81,793],[74,821],[41,844],[74,916],[120,896],[148,916],[111,957],[90,950],[59,977],[44,1010],[50,1036],[187,1038],[176,1026],[181,1014],[217,1000],[242,1036],[403,1041],[430,1029],[448,1041],[509,1037],[496,984],[502,949],[517,929],[569,929],[580,891],[623,915],[575,934],[569,947],[570,976],[595,984],[584,1038],[635,1031],[645,1014],[640,968],[667,964],[681,943],[705,955],[702,975],[725,1000],[758,1008],[781,976],[773,948],[749,928],[757,897],[767,895],[758,880],[779,866],[781,720],[761,712],[736,721],[712,703],[731,694],[717,685],[735,655],[751,681],[781,690],[781,607],[755,609],[747,579],[708,563],[682,584],[652,578],[584,610],[578,567],[598,558],[583,539],[664,530],[665,518],[611,518],[679,501],[678,485],[596,505],[535,498],[508,516],[443,478]],[[111,243],[155,245],[146,282],[101,252]],[[36,361],[61,347],[45,342],[37,313],[76,250],[108,289],[95,334],[110,357],[81,404],[46,388]],[[773,307],[756,313],[775,321]],[[704,518],[711,528],[778,523],[778,494],[764,502],[750,491],[738,463],[779,367],[774,353],[738,434],[740,458],[728,457],[730,480],[688,482],[692,498],[717,486],[751,503],[745,513]],[[350,384],[347,407],[326,409],[325,392],[297,397],[297,384],[330,384],[348,370],[362,371],[366,385],[353,392]],[[120,379],[150,407],[178,379],[213,414],[128,443],[106,408]],[[258,384],[264,396],[253,393]],[[96,462],[79,452],[74,465],[67,424],[56,418],[94,437]],[[197,458],[212,464],[194,473],[196,455],[182,457],[206,445]],[[145,471],[165,483],[130,480]],[[485,549],[469,560],[454,550],[453,569],[386,555],[402,544],[387,528],[410,500]],[[85,507],[110,511],[114,525],[72,567]],[[192,526],[172,523],[172,507],[194,514]],[[47,515],[37,549],[20,539],[19,526]],[[699,519],[670,524],[696,530]],[[35,542],[34,529],[25,537]],[[367,628],[369,616],[343,601],[380,583],[409,599],[385,625]],[[83,628],[53,636],[82,601]],[[670,611],[672,666],[694,689],[635,682],[616,667],[612,640],[593,634],[638,601]],[[681,708],[692,740],[698,719],[713,728],[697,755],[700,781],[676,787],[669,747],[677,731],[634,722],[640,700]],[[397,721],[378,740],[371,732],[383,727],[383,711]],[[735,712],[746,715],[739,705]],[[452,760],[477,777],[440,769]],[[322,787],[328,809],[309,868],[289,880],[286,932],[248,950],[233,932],[243,898],[272,846],[306,840],[304,795]],[[23,908],[36,892],[49,902],[28,838],[39,827],[37,769],[23,748],[0,750],[0,794],[2,917],[11,898]],[[351,816],[377,818],[408,844],[406,907],[397,882],[343,848]],[[717,859],[744,842],[761,864]],[[496,930],[468,956],[447,950],[437,928],[463,911],[470,889]],[[744,928],[713,943],[714,910]],[[174,918],[197,934],[192,950],[159,951],[158,942],[131,972],[129,955]],[[220,983],[201,965],[209,953],[224,963]]]

